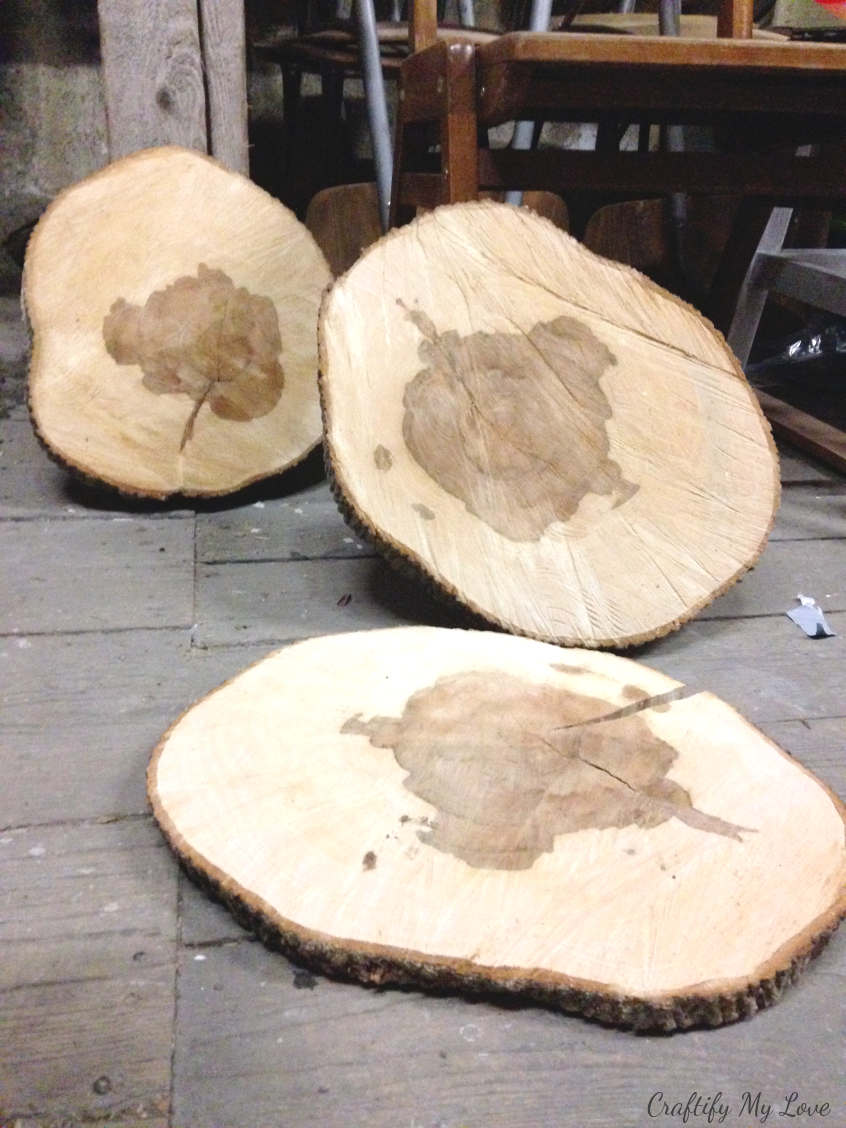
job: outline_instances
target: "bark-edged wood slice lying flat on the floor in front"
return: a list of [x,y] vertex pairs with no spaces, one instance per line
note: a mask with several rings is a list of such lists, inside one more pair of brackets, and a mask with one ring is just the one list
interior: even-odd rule
[[267,942],[370,984],[719,1024],[846,913],[846,812],[628,659],[400,627],[297,643],[150,764],[176,853]]

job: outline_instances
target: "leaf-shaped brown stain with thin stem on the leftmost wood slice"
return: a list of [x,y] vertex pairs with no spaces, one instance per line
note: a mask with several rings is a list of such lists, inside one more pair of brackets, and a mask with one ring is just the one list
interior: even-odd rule
[[196,277],[177,279],[143,306],[118,298],[103,321],[103,337],[118,364],[141,367],[149,391],[194,400],[180,450],[204,404],[220,418],[243,423],[273,411],[282,394],[275,306],[202,263]]

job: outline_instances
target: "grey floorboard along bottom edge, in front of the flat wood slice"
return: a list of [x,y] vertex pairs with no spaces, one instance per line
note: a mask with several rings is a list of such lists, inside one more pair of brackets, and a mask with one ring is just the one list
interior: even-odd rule
[[834,1109],[844,1092],[832,1006],[844,987],[844,938],[754,1022],[672,1039],[632,1038],[535,1007],[362,992],[303,975],[248,942],[187,951],[175,1120],[253,1128],[274,1123],[283,1108],[298,1128],[640,1128],[656,1090],[682,1103],[691,1085],[722,1091],[737,1116],[750,1085],[781,1107],[782,1078],[794,1076],[793,1087]]

